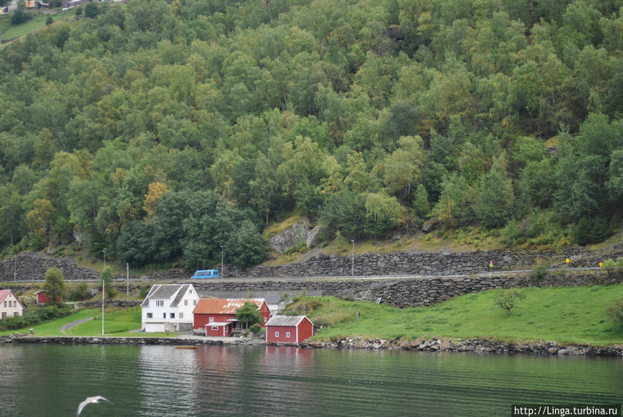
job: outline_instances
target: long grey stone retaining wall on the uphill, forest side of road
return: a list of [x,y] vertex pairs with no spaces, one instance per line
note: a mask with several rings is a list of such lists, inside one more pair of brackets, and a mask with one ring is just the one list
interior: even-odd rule
[[[623,257],[623,244],[607,250],[568,248],[563,252],[515,252],[491,250],[480,252],[392,252],[360,254],[354,259],[354,274],[365,276],[387,275],[470,275],[478,272],[530,269],[536,263],[557,268],[565,266],[570,257],[571,266],[597,266],[599,261]],[[493,261],[493,268],[489,262]],[[17,268],[16,268],[17,266]],[[239,271],[240,277],[335,277],[351,275],[353,259],[347,254],[310,254],[304,261],[283,266],[256,266]],[[47,268],[56,267],[67,280],[99,279],[99,273],[76,265],[68,257],[45,257],[24,252],[0,262],[0,282],[43,280]],[[209,267],[209,266],[206,266]],[[220,265],[214,266],[220,269]],[[222,277],[234,277],[234,266],[225,265]],[[14,272],[17,272],[14,274]],[[170,270],[148,275],[131,275],[131,279],[146,281],[182,281],[192,275],[191,270]],[[125,278],[119,275],[115,278]]]

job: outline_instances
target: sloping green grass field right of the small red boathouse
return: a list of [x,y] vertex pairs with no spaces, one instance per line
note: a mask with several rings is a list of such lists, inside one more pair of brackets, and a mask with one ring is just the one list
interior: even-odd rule
[[623,297],[623,285],[575,288],[523,288],[511,314],[495,303],[501,290],[463,295],[432,307],[393,308],[331,297],[304,299],[306,314],[324,325],[316,340],[337,337],[488,337],[548,340],[561,344],[620,344],[623,331],[606,317],[606,306]]

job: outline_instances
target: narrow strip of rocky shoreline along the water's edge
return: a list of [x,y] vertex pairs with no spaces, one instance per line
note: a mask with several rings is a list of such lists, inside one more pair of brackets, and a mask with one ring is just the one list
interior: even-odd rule
[[266,343],[261,339],[234,337],[85,337],[85,336],[0,336],[0,344],[143,344],[177,346],[223,346],[223,345],[270,345],[296,346],[306,349],[386,349],[419,352],[473,352],[473,353],[523,353],[529,355],[557,356],[619,356],[623,357],[623,345],[593,346],[577,344],[563,346],[556,342],[507,343],[500,340],[471,337],[419,337],[416,340],[344,337],[335,341],[301,342],[299,344]]

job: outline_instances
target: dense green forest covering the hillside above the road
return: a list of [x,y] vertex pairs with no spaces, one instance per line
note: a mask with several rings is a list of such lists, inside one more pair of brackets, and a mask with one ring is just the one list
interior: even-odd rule
[[244,268],[292,211],[601,241],[622,51],[623,0],[94,3],[0,51],[0,250]]

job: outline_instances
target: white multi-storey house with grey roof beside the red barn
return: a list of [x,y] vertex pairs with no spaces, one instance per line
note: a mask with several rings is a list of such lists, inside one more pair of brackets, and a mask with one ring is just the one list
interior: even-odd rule
[[193,309],[199,295],[191,284],[152,286],[141,304],[141,328],[146,332],[193,329]]

